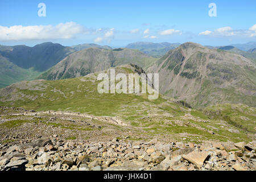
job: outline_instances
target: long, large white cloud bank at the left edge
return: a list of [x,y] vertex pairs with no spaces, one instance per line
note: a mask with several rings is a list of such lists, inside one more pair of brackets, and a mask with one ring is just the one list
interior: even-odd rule
[[70,39],[84,31],[77,23],[60,23],[56,26],[0,26],[1,41],[18,40],[46,40],[46,39]]

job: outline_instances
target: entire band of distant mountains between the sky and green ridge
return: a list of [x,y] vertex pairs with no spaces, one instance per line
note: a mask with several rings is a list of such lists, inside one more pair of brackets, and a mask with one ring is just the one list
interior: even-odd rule
[[[149,42],[127,47],[112,49],[98,44],[64,47],[53,43],[0,46],[0,87],[23,80],[81,77],[118,65],[137,64],[148,73],[159,73],[160,93],[193,107],[225,102],[255,106],[255,48],[242,51],[234,46]],[[167,53],[158,57],[145,53],[146,50]]]

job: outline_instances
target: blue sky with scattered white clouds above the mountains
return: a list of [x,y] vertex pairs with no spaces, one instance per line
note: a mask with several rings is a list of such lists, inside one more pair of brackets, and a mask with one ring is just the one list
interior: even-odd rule
[[[38,4],[46,16],[38,16]],[[215,3],[217,17],[208,5]],[[256,1],[0,1],[0,44],[196,42],[220,46],[256,41]]]

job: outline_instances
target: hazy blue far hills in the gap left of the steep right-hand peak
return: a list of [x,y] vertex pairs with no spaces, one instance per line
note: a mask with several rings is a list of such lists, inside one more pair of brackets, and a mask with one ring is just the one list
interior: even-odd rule
[[138,49],[148,55],[152,56],[163,56],[166,52],[170,51],[171,49],[175,49],[178,47],[180,43],[152,43],[152,42],[135,42],[128,44],[126,48],[130,49]]

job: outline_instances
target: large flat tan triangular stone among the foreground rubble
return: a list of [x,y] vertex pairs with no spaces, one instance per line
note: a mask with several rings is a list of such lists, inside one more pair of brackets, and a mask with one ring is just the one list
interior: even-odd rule
[[183,155],[182,158],[185,160],[188,160],[192,164],[195,164],[197,168],[200,168],[203,166],[204,161],[207,159],[208,155],[209,155],[209,152],[207,151],[202,151],[202,152],[193,151],[187,155]]

